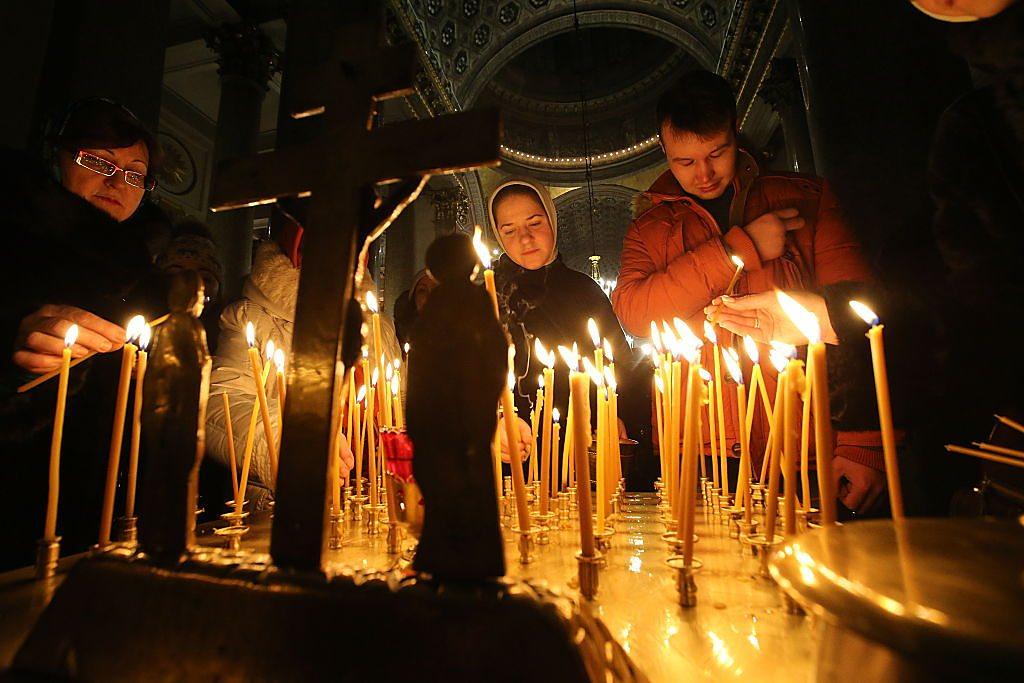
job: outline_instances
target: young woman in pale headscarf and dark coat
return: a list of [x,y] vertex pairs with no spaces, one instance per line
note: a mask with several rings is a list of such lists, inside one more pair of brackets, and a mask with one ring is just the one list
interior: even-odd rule
[[[535,340],[540,339],[551,350],[571,348],[575,343],[581,355],[593,356],[594,342],[588,330],[588,321],[593,318],[614,356],[620,436],[649,437],[649,375],[640,370],[645,366],[638,367],[638,356],[630,348],[604,291],[593,279],[566,266],[558,254],[557,214],[548,191],[529,180],[509,180],[492,194],[488,208],[492,229],[505,250],[495,266],[495,281],[503,323],[516,346],[516,409],[520,419],[529,417],[544,371],[534,352]],[[554,396],[564,429],[568,372],[560,357],[555,366]],[[520,431],[529,434],[525,422],[520,423]]]

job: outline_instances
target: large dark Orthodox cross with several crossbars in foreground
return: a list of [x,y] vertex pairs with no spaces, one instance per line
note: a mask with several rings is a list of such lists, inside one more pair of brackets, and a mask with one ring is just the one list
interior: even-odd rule
[[[297,3],[293,17],[302,9],[315,16],[315,6]],[[322,135],[223,162],[210,204],[221,211],[309,198],[270,554],[279,566],[319,570],[333,402],[344,379],[343,304],[353,292],[356,236],[360,227],[374,237],[383,231],[430,174],[496,165],[501,122],[490,110],[373,128],[376,102],[413,92],[415,50],[379,49],[380,25],[367,16],[325,26],[310,15],[289,20],[289,46],[327,40],[339,47],[327,63],[304,74],[286,62],[284,92],[293,118],[322,118]],[[373,194],[380,182],[397,183],[383,203]]]

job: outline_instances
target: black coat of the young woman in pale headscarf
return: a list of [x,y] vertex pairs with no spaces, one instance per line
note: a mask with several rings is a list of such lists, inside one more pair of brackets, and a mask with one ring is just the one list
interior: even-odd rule
[[568,371],[557,347],[571,348],[575,342],[581,355],[593,356],[594,342],[587,329],[588,318],[593,317],[614,353],[618,416],[626,423],[631,438],[649,438],[650,366],[639,352],[634,353],[630,348],[611,302],[598,284],[570,269],[561,256],[543,268],[527,270],[503,255],[495,267],[495,282],[503,323],[516,346],[519,416],[529,422],[529,410],[537,398],[538,376],[544,366],[535,356],[534,340],[540,338],[547,348],[556,352],[554,407],[561,414],[564,432],[568,416]]

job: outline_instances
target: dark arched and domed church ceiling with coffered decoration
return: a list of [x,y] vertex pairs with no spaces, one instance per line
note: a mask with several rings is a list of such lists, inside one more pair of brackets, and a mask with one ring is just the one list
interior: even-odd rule
[[673,77],[714,68],[729,0],[392,0],[427,61],[421,96],[434,113],[499,106],[503,168],[552,184],[586,168],[586,87],[594,177],[657,163],[654,102]]

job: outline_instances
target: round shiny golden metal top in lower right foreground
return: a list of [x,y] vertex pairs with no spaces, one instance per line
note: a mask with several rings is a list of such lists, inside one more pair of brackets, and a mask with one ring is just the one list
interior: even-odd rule
[[879,520],[805,533],[771,572],[808,609],[921,659],[1024,666],[1024,528]]

